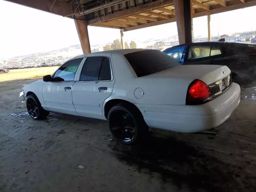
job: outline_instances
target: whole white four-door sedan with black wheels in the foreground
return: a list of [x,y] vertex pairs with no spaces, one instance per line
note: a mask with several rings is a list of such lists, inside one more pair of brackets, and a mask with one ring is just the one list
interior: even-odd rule
[[158,50],[112,50],[75,57],[23,87],[34,120],[59,112],[108,120],[124,144],[148,126],[200,132],[226,121],[240,102],[227,66],[180,66]]

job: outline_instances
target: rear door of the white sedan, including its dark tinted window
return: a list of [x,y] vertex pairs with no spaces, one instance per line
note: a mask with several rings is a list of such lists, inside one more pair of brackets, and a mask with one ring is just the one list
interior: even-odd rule
[[87,57],[80,76],[73,85],[73,104],[77,114],[104,119],[102,105],[111,95],[113,86],[114,77],[110,56]]

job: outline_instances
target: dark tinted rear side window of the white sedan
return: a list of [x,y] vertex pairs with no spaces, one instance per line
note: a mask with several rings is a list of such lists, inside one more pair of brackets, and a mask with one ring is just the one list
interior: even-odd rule
[[79,80],[111,80],[110,61],[108,57],[99,56],[86,58]]

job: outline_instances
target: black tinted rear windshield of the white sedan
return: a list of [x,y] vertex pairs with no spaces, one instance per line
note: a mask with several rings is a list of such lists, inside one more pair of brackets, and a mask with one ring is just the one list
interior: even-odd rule
[[124,55],[138,77],[179,66],[172,57],[159,50],[143,50]]

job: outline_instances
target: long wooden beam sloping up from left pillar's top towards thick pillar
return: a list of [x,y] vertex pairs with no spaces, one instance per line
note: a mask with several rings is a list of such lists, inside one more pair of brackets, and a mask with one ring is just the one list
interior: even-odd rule
[[130,8],[124,11],[108,14],[106,16],[102,16],[101,18],[95,18],[95,19],[89,20],[89,25],[100,22],[100,21],[110,21],[113,19],[131,16],[133,14],[139,14],[147,10],[162,8],[164,6],[168,6],[171,4],[173,4],[173,0],[156,0],[154,2],[136,6],[134,8]]

